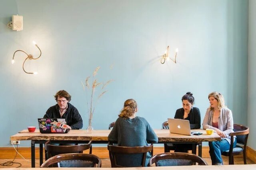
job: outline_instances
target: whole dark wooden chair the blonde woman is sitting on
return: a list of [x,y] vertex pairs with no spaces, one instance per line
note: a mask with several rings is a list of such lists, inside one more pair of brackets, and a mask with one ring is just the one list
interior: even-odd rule
[[[228,156],[228,164],[234,164],[234,155],[243,154],[244,156],[244,164],[246,164],[246,145],[247,145],[247,139],[249,136],[249,127],[243,126],[243,125],[237,125],[234,124],[234,132],[230,133],[231,136],[231,144],[230,149],[226,150],[225,152],[222,152],[222,155]],[[236,147],[234,146],[234,136],[236,136]],[[240,146],[240,145],[243,145]]]

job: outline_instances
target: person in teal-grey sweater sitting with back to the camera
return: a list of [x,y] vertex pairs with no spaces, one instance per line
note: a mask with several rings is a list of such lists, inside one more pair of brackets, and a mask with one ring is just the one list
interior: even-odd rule
[[[133,99],[124,102],[124,108],[118,115],[116,123],[108,135],[108,141],[117,141],[122,147],[142,147],[148,142],[157,143],[158,137],[149,123],[143,117],[136,116],[137,103]],[[147,153],[145,166],[148,165],[152,155]],[[140,166],[142,154],[118,156],[118,164],[121,166]]]

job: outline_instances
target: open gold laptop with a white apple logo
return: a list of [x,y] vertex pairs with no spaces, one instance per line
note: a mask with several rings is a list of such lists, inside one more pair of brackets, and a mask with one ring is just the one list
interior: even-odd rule
[[190,130],[189,120],[168,118],[170,133],[193,135]]

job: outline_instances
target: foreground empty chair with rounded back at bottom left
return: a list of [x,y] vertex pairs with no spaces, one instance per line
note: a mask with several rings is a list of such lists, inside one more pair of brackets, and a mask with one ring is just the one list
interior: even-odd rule
[[101,159],[93,154],[84,153],[70,153],[70,154],[59,154],[46,160],[40,168],[48,168],[54,164],[58,164],[58,167],[72,167],[72,168],[83,168],[83,167],[101,167]]

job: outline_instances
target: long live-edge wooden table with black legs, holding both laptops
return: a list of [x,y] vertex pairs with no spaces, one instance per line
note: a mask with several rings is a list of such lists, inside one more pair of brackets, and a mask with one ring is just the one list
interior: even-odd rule
[[[38,129],[30,133],[28,130],[22,130],[16,135],[10,137],[11,141],[30,141],[31,140],[31,166],[35,167],[35,144],[40,148],[40,165],[43,163],[43,144],[50,140],[56,143],[108,143],[108,134],[111,130],[93,130],[92,133],[86,133],[86,130],[70,130],[68,133],[40,133]],[[154,130],[158,136],[158,143],[195,143],[220,141],[217,133],[207,135],[205,130],[193,129],[192,132],[201,132],[202,135],[179,135],[170,133],[167,129]],[[198,147],[198,155],[202,157],[202,145]]]

